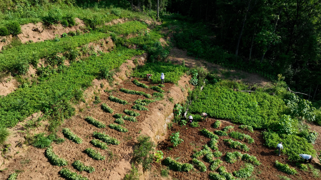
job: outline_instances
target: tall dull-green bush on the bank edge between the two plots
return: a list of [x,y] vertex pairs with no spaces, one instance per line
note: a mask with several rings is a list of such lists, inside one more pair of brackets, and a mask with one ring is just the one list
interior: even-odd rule
[[152,142],[148,135],[140,135],[137,137],[137,143],[134,145],[133,161],[143,166],[143,170],[150,170],[153,162],[155,143]]

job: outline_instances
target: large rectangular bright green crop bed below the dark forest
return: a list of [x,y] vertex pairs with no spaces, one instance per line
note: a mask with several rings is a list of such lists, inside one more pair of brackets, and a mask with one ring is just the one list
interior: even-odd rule
[[284,102],[264,92],[243,93],[219,84],[206,85],[199,97],[192,101],[192,113],[207,112],[209,116],[231,119],[255,128],[266,128],[279,119],[285,108]]

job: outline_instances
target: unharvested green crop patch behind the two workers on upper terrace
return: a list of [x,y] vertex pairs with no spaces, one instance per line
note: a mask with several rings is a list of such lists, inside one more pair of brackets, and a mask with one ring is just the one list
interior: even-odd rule
[[161,82],[160,74],[164,73],[166,82],[176,83],[186,71],[187,68],[180,65],[174,65],[172,63],[165,62],[155,62],[146,63],[143,67],[135,70],[132,75],[137,78],[146,78],[146,74],[152,74],[153,76],[151,77],[151,83],[159,84]]

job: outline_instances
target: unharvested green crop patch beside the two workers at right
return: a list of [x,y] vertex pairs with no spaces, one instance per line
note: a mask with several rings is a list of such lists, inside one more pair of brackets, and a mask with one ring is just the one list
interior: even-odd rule
[[315,156],[316,151],[313,149],[312,144],[308,143],[307,139],[297,135],[278,135],[274,132],[263,132],[264,145],[269,148],[275,148],[279,142],[283,144],[282,152],[289,156],[289,160],[297,161],[301,158],[299,154],[310,154]]

